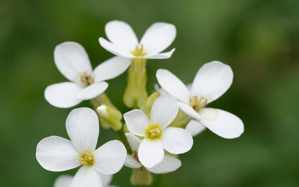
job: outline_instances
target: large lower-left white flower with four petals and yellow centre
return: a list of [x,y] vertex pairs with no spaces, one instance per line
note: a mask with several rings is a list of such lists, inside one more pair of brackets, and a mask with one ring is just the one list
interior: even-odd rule
[[90,108],[74,109],[66,119],[66,130],[71,141],[59,136],[42,139],[36,147],[36,159],[49,171],[77,171],[71,187],[102,186],[100,173],[115,174],[125,161],[126,149],[112,140],[95,150],[99,136],[99,119]]

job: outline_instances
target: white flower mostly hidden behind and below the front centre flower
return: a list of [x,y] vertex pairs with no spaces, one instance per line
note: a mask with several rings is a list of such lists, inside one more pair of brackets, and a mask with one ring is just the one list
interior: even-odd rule
[[[129,168],[140,168],[142,164],[138,159],[138,148],[141,143],[141,139],[139,139],[132,133],[125,133],[125,135],[133,153],[132,155],[127,154],[124,165]],[[160,163],[152,168],[145,168],[152,173],[163,174],[176,171],[179,167],[181,167],[181,165],[182,163],[179,159],[173,156],[164,155],[164,158]]]

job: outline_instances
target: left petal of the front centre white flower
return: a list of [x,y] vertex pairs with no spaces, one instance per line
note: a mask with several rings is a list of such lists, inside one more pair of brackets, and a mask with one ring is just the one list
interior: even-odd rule
[[131,110],[123,115],[128,130],[137,136],[146,136],[146,128],[149,119],[144,112],[139,109]]

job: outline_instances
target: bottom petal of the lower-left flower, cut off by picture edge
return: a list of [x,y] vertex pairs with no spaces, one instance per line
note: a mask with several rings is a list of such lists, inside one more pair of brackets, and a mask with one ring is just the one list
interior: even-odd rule
[[70,187],[102,187],[100,172],[83,165],[76,173]]

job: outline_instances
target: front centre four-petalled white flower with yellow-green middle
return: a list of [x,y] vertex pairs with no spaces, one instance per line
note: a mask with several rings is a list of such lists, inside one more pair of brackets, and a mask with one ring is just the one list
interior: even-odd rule
[[150,120],[141,110],[132,110],[123,115],[128,130],[144,139],[138,148],[138,159],[142,165],[152,168],[164,158],[164,150],[173,154],[191,149],[193,139],[187,130],[167,127],[179,111],[178,101],[171,95],[158,97],[151,109]]

